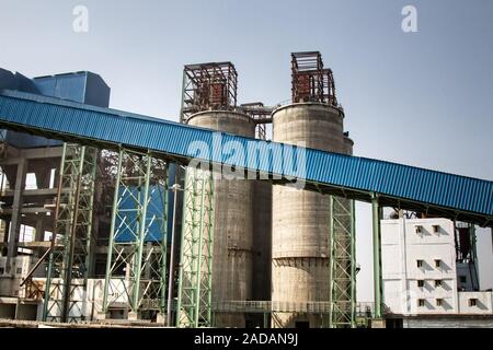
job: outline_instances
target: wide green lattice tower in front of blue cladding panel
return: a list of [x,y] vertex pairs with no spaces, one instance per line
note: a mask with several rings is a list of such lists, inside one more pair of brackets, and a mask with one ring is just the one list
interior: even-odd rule
[[[164,161],[119,150],[103,313],[112,306],[135,314],[165,311],[168,192]],[[164,210],[152,210],[158,202]],[[150,228],[156,225],[159,236],[151,237]]]

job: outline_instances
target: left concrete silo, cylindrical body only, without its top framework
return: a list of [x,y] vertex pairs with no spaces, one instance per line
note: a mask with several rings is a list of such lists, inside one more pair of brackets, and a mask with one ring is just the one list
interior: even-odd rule
[[[227,110],[200,112],[188,125],[254,137],[255,125],[245,114]],[[253,180],[215,179],[213,303],[252,298],[252,195]],[[245,327],[241,313],[215,314],[217,327]]]

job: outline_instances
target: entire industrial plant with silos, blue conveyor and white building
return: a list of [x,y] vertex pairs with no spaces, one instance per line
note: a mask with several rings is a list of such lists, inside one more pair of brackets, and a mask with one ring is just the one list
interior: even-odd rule
[[[184,66],[172,122],[110,109],[110,88],[91,72],[0,69],[0,318],[419,325],[401,317],[414,315],[400,299],[411,290],[425,300],[417,315],[440,300],[439,314],[457,316],[474,300],[491,322],[492,294],[468,272],[473,241],[455,237],[460,222],[468,233],[493,226],[492,182],[353,156],[318,51],[291,54],[288,104],[239,103],[238,75],[228,61]],[[369,310],[356,302],[356,200],[372,205]],[[380,221],[383,207],[432,219]],[[432,280],[439,293],[411,285]]]

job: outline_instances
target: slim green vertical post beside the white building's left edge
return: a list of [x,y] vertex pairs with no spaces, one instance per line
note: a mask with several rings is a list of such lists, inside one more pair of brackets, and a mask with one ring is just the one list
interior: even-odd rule
[[372,230],[374,230],[374,299],[375,318],[381,318],[381,247],[380,247],[380,206],[377,196],[371,197]]

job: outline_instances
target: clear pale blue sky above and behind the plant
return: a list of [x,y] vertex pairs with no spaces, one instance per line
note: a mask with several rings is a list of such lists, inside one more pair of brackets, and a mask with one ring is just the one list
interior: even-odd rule
[[[89,9],[89,32],[72,9]],[[417,33],[401,10],[417,9]],[[176,120],[185,63],[230,60],[240,102],[290,96],[289,54],[333,69],[355,154],[493,179],[493,1],[0,0],[0,67],[28,77],[90,70],[111,106]],[[370,215],[358,206],[360,300],[370,300]],[[480,231],[482,287],[493,285]]]

